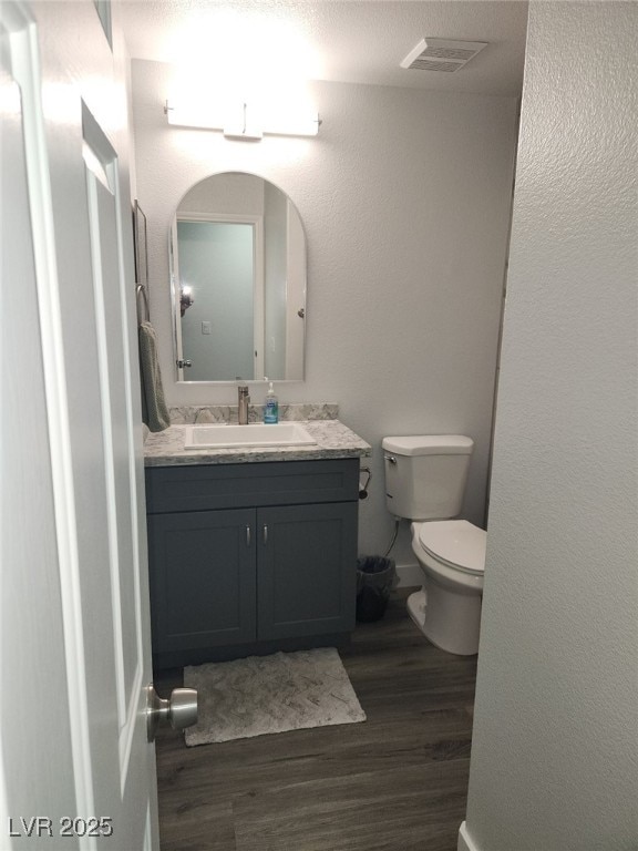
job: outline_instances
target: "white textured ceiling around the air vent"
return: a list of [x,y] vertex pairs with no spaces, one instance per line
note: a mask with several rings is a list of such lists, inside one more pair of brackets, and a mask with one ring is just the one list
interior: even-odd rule
[[[308,79],[518,95],[525,0],[123,0],[133,59],[277,64]],[[399,66],[420,39],[487,41],[454,73]],[[286,71],[285,71],[286,72]]]

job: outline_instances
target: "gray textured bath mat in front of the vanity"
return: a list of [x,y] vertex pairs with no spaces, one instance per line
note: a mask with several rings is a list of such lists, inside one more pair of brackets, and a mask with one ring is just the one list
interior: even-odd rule
[[184,686],[198,693],[189,747],[366,720],[333,647],[191,666]]

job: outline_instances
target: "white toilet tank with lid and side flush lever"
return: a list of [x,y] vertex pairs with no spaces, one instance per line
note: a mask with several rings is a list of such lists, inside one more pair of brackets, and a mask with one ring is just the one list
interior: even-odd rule
[[385,504],[398,517],[445,520],[461,511],[474,441],[462,434],[383,438]]

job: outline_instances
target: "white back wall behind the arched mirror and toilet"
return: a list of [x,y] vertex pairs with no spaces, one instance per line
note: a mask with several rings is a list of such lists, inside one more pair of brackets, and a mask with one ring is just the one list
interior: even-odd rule
[[[306,380],[278,383],[279,400],[338,402],[342,421],[374,445],[361,550],[382,552],[390,537],[384,434],[473,437],[465,515],[481,522],[514,99],[316,83],[318,137],[246,143],[168,126],[163,104],[173,71],[133,63],[137,192],[148,218],[151,308],[169,403],[236,401],[233,387],[173,382],[171,217],[207,174],[256,173],[290,196],[308,239]],[[254,399],[264,392],[254,388]],[[405,542],[403,557],[411,560]]]

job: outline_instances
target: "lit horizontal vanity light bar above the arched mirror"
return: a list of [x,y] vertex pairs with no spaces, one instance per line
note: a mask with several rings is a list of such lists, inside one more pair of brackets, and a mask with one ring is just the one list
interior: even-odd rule
[[263,135],[316,136],[321,120],[318,113],[278,110],[259,117],[258,110],[248,103],[234,104],[230,114],[206,105],[176,104],[164,106],[168,124],[182,127],[220,130],[227,139],[260,140]]

